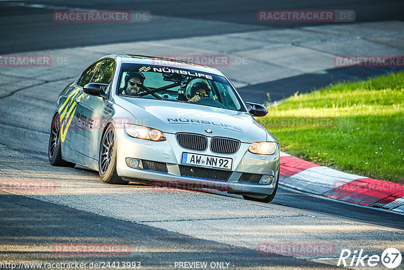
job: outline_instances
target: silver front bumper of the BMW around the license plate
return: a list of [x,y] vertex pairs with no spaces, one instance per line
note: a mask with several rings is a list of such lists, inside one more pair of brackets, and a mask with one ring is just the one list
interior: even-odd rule
[[[249,143],[241,143],[235,154],[217,154],[212,153],[209,147],[205,151],[184,149],[178,145],[175,134],[165,133],[167,141],[154,142],[132,138],[124,129],[117,131],[117,173],[126,181],[135,178],[151,182],[172,182],[185,184],[185,187],[189,189],[207,188],[236,194],[271,195],[275,190],[279,174],[279,149],[273,155],[256,155],[247,151]],[[208,137],[209,145],[210,139]],[[189,176],[186,173],[181,174],[180,166],[184,168],[184,165],[181,165],[183,152],[232,158],[233,163],[231,171],[228,171],[229,176],[225,180],[218,180],[196,177],[196,175]],[[127,165],[126,158],[160,162],[167,166],[167,170],[162,172],[150,169],[134,169]],[[191,166],[186,165],[185,167]],[[216,169],[210,169],[211,175],[212,170]],[[223,172],[223,170],[218,169],[218,173],[219,171]],[[257,177],[270,175],[274,177],[274,182],[270,185],[258,184],[257,181],[257,183],[246,183],[243,179],[247,174]]]

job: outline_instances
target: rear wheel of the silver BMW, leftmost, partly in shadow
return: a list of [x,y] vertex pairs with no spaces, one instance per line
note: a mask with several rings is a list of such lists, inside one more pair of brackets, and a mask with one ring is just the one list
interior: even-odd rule
[[76,164],[62,159],[62,141],[60,139],[60,116],[56,114],[52,119],[51,136],[49,136],[49,145],[47,157],[49,163],[53,166],[74,167]]

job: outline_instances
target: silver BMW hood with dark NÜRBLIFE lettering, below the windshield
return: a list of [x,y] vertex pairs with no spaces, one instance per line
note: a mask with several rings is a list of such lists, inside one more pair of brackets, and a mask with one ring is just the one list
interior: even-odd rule
[[[118,97],[115,103],[139,122],[167,133],[191,132],[244,143],[272,141],[272,134],[247,112],[174,101]],[[211,133],[209,133],[211,132]]]

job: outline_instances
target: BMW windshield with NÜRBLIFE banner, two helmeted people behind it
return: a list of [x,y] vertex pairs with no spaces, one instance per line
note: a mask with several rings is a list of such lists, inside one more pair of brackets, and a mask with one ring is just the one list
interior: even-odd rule
[[123,64],[117,95],[242,110],[226,78],[182,67]]

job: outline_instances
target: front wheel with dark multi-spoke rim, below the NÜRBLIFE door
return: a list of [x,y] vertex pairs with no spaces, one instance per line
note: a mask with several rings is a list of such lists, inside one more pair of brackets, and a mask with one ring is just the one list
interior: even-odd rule
[[108,184],[128,184],[117,173],[117,148],[115,129],[108,126],[99,144],[98,173],[101,180]]

